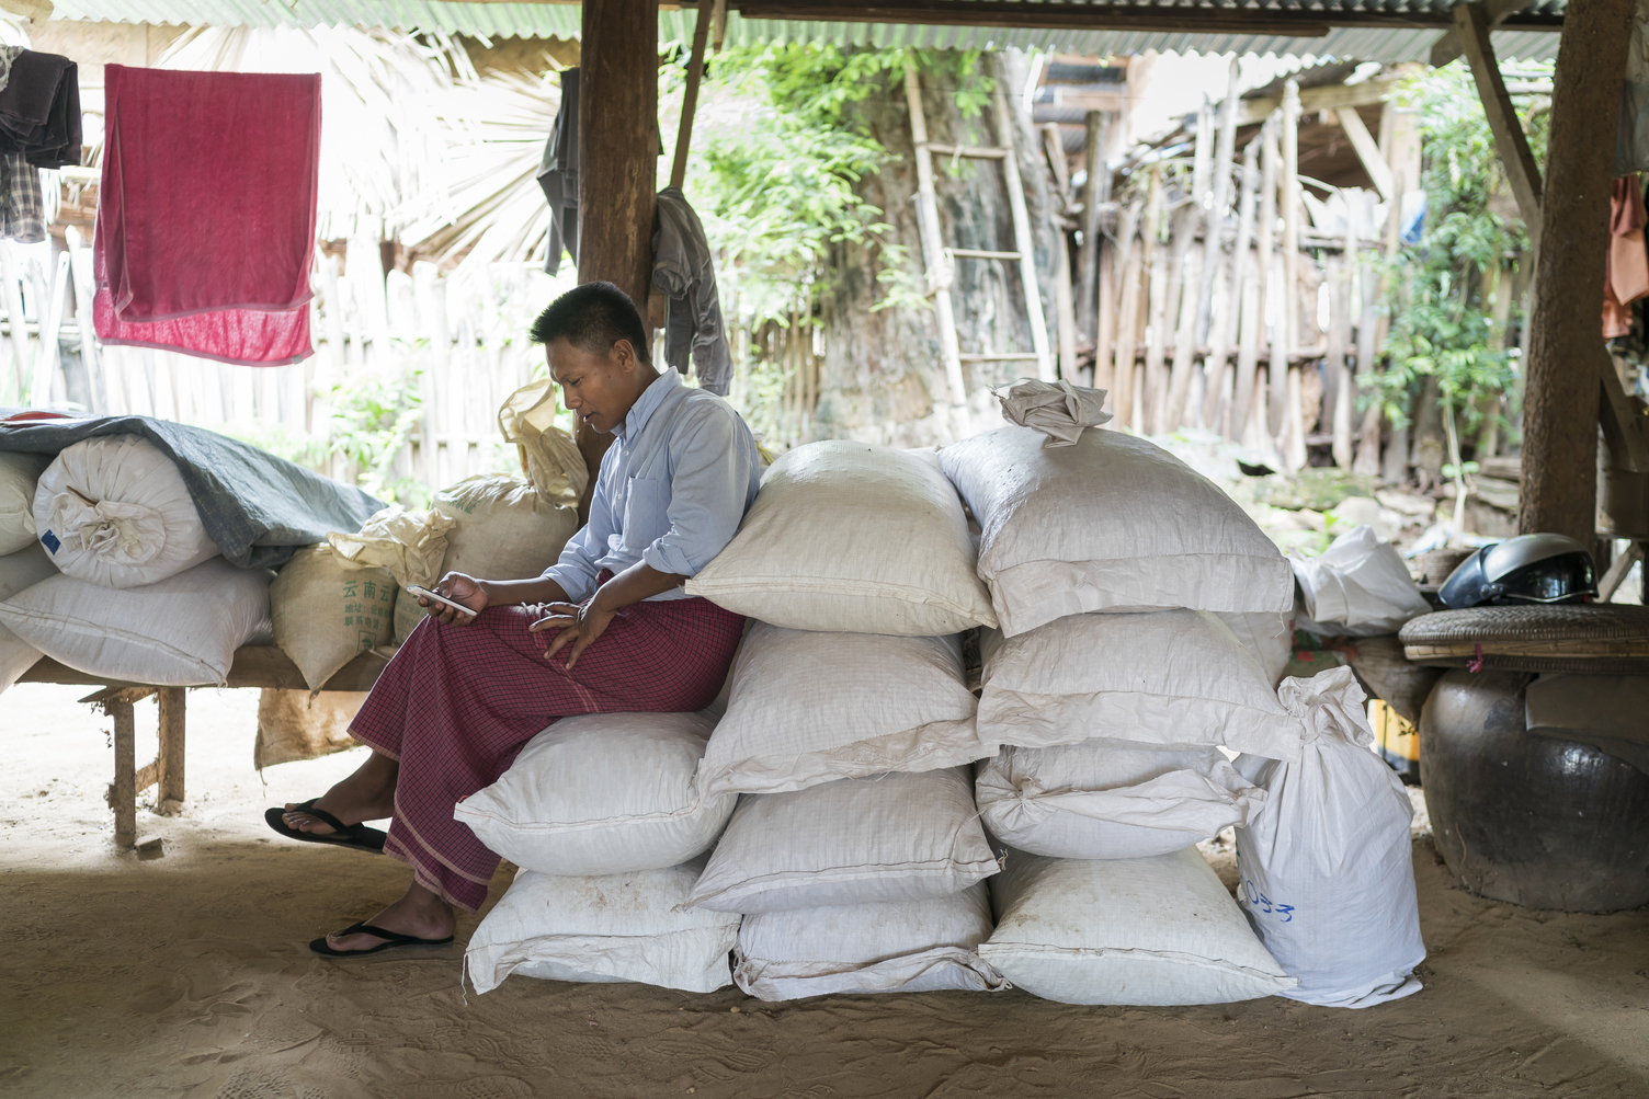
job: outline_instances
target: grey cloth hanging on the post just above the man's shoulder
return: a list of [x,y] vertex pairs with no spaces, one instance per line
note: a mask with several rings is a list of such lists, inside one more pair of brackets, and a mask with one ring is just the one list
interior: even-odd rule
[[665,362],[686,374],[691,351],[699,389],[726,397],[732,387],[732,351],[716,293],[716,265],[704,224],[678,186],[658,193],[653,287],[666,300]]

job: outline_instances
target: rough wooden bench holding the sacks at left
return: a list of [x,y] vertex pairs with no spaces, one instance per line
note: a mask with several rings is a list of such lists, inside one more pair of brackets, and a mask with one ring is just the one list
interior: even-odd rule
[[[322,690],[371,690],[378,674],[389,657],[379,651],[363,652],[327,680]],[[114,718],[114,783],[106,799],[114,809],[114,842],[130,847],[137,842],[137,796],[157,786],[155,802],[183,801],[183,738],[186,687],[152,687],[130,684],[107,676],[87,676],[64,667],[54,659],[41,657],[18,677],[20,684],[66,684],[74,687],[99,687],[81,702],[99,707]],[[285,652],[272,644],[249,644],[236,649],[229,667],[229,687],[274,687],[277,690],[307,690],[308,684]],[[153,763],[137,766],[137,702],[155,697],[160,709],[160,751]]]

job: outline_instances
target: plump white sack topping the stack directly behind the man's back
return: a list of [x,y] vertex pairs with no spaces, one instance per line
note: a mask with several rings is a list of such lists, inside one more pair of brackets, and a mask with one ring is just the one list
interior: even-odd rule
[[996,624],[937,461],[846,440],[775,461],[739,534],[686,590],[790,629],[927,638]]

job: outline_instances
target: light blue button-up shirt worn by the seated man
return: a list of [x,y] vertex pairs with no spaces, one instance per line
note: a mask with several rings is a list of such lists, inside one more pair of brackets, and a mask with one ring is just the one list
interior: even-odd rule
[[[688,389],[665,371],[646,387],[602,458],[590,521],[544,575],[567,598],[595,593],[602,568],[638,560],[660,572],[698,575],[739,531],[762,483],[762,456],[731,404]],[[671,588],[653,600],[684,600]]]

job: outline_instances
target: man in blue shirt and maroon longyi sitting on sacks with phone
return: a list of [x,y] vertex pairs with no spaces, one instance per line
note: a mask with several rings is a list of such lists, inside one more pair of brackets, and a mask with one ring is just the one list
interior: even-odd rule
[[[496,781],[516,751],[576,713],[701,710],[721,690],[744,618],[681,585],[732,540],[760,456],[739,414],[648,359],[641,316],[590,282],[533,323],[562,404],[617,438],[589,522],[543,577],[447,573],[430,610],[356,713],[373,748],[355,774],[285,811],[290,839],[383,850],[411,863],[406,896],[310,942],[327,956],[452,941],[453,906],[477,911],[498,868],[452,807]],[[363,821],[391,817],[389,832]]]

